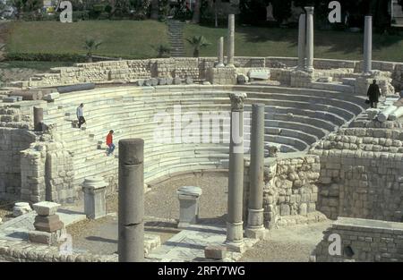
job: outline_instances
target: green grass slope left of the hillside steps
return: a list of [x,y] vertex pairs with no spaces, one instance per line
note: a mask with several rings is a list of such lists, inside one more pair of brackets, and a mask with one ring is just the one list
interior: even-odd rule
[[155,57],[152,48],[167,44],[167,25],[159,21],[15,21],[6,49],[13,53],[85,55],[86,38],[103,43],[94,55],[131,58]]

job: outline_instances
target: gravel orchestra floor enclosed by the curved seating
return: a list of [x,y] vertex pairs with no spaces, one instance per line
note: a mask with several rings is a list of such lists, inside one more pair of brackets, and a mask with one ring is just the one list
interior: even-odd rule
[[[179,216],[176,190],[186,185],[201,187],[201,222],[223,223],[225,221],[223,216],[227,211],[226,174],[186,175],[161,182],[145,194],[145,216],[155,217],[146,219],[145,233],[158,234],[161,242],[166,242],[179,232],[174,222]],[[117,216],[114,213],[117,213],[117,198],[117,193],[107,197],[107,213],[112,215],[96,221],[85,220],[67,226],[67,233],[72,234],[73,237],[74,249],[89,250],[98,254],[116,252]]]

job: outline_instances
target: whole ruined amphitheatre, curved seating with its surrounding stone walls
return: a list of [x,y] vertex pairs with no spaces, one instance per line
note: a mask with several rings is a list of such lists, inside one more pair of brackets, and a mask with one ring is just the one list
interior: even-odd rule
[[[221,59],[233,65],[219,67]],[[310,59],[313,69],[304,67]],[[238,95],[244,97],[239,101],[244,103],[244,221],[251,181],[250,113],[259,103],[264,104],[266,231],[326,219],[331,225],[306,260],[402,261],[403,64],[370,65],[366,72],[365,61],[313,60],[309,52],[302,60],[165,58],[75,64],[15,81],[0,92],[0,199],[68,206],[83,199],[83,184],[92,177],[104,180],[107,194],[114,193],[117,142],[130,138],[144,140],[145,192],[183,174],[227,174],[230,96]],[[382,98],[371,109],[364,101],[373,79]],[[81,103],[87,123],[79,129],[75,114]],[[184,140],[177,123],[192,136]],[[210,126],[201,130],[201,123]],[[115,157],[105,151],[110,130],[115,131]],[[0,225],[0,233],[12,221]],[[330,254],[334,233],[341,250]],[[63,258],[51,247],[32,257],[24,252],[26,241],[0,236],[0,259]],[[86,258],[75,260],[116,257]]]

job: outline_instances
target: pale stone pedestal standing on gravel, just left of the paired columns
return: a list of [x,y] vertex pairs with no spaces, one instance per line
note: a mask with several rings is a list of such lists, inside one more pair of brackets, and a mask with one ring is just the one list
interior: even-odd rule
[[179,199],[179,223],[178,228],[185,228],[197,223],[199,218],[199,198],[201,188],[184,186],[176,191]]

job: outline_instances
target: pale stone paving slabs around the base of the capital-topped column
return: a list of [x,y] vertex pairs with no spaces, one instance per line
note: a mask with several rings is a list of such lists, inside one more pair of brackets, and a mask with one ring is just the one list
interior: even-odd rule
[[[161,262],[211,261],[211,259],[204,258],[204,248],[211,245],[226,246],[226,238],[227,229],[225,227],[191,225],[156,250],[152,250],[148,258]],[[252,248],[256,242],[258,241],[245,238],[246,250]],[[241,257],[242,253],[228,251],[224,261],[236,261]]]

